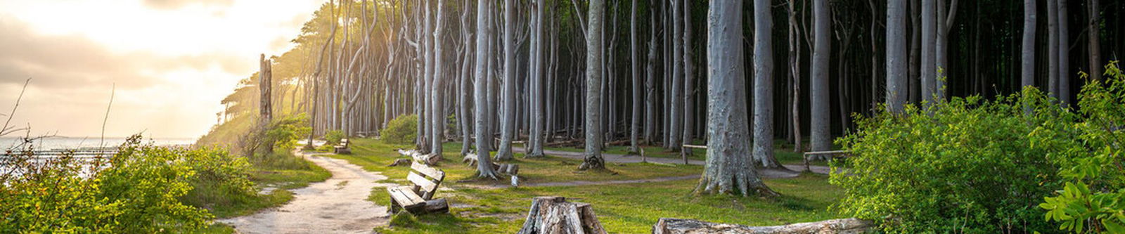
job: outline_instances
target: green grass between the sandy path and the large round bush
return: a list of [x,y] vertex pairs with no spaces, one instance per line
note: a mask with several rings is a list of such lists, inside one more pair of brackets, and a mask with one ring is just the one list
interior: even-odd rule
[[[369,171],[378,171],[392,178],[392,182],[408,183],[404,180],[408,168],[387,166],[395,159],[405,159],[394,148],[412,145],[390,145],[376,140],[354,140],[351,155],[332,155],[348,160]],[[622,147],[623,148],[623,147]],[[660,217],[695,218],[716,223],[744,225],[781,225],[839,218],[842,215],[828,207],[843,196],[843,190],[831,186],[825,176],[803,174],[791,179],[766,180],[766,184],[782,194],[778,198],[696,196],[693,190],[696,180],[677,180],[649,183],[623,183],[606,186],[570,187],[520,187],[506,189],[480,188],[479,184],[504,184],[506,180],[472,179],[475,166],[460,163],[460,144],[443,145],[444,160],[438,168],[447,172],[436,195],[448,198],[452,205],[450,214],[396,215],[389,227],[380,227],[379,233],[514,233],[523,223],[531,205],[538,196],[561,196],[570,201],[588,202],[594,207],[602,225],[610,233],[647,233]],[[647,151],[647,150],[646,150]],[[609,153],[614,153],[613,148]],[[702,153],[700,153],[702,154]],[[677,155],[678,156],[678,155]],[[701,155],[702,156],[702,155]],[[800,155],[778,154],[778,160]],[[784,156],[784,158],[783,158]],[[785,161],[783,161],[785,162]],[[528,182],[552,181],[604,181],[629,180],[657,177],[699,174],[699,165],[666,165],[652,163],[610,163],[613,172],[575,171],[577,160],[561,158],[522,159],[505,163],[520,164],[521,177]],[[382,188],[374,188],[368,198],[386,205],[389,197]]]

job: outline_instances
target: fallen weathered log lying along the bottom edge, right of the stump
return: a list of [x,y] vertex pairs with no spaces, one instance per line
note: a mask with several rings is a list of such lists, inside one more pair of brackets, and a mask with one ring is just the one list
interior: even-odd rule
[[874,225],[858,218],[828,219],[812,223],[798,223],[781,226],[744,226],[737,224],[716,224],[695,219],[660,218],[652,226],[652,234],[703,234],[703,233],[745,233],[745,234],[858,234],[866,233]]

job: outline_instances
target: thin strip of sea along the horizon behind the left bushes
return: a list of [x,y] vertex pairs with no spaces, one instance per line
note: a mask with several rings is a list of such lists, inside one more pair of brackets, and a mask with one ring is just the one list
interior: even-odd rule
[[[100,137],[47,137],[40,138],[32,142],[36,151],[48,151],[48,150],[80,150],[80,148],[96,148],[100,146],[105,147],[116,147],[125,143],[125,137],[107,137],[102,143]],[[0,148],[11,148],[24,140],[20,137],[0,137]],[[141,141],[143,144],[152,143],[156,146],[186,146],[195,144],[194,138],[144,138]],[[99,145],[100,144],[100,145]]]

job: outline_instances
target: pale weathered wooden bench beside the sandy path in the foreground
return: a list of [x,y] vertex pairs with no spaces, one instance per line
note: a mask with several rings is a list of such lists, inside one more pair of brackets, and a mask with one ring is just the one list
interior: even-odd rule
[[438,192],[438,186],[446,179],[446,172],[425,164],[411,163],[411,172],[406,176],[413,186],[387,187],[390,194],[390,214],[406,210],[411,214],[448,213],[446,198],[432,199]]

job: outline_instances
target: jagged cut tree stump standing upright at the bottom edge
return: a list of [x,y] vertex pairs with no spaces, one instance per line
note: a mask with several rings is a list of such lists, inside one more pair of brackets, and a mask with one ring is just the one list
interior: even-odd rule
[[590,204],[567,202],[564,197],[536,197],[519,234],[604,234]]

